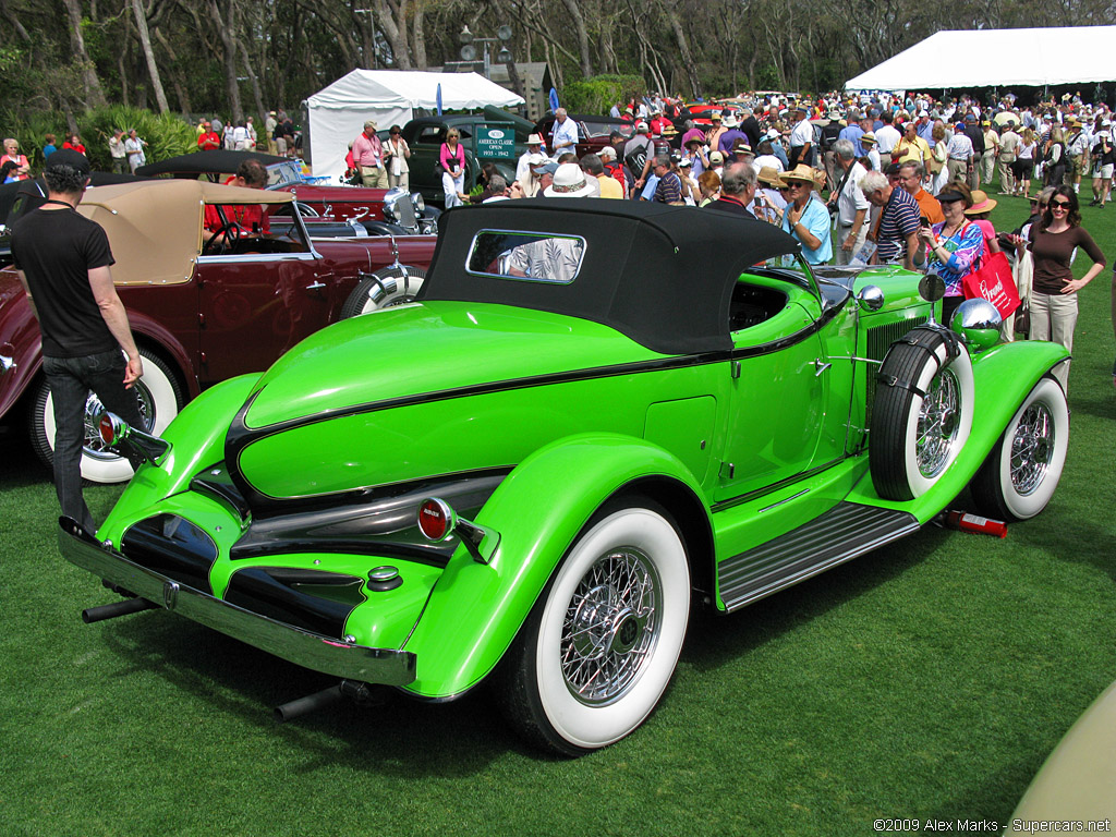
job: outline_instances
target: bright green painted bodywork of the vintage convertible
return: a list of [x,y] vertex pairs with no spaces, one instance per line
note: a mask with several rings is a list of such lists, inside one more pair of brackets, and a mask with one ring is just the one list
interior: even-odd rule
[[[692,354],[648,347],[604,321],[490,300],[421,296],[335,324],[262,375],[190,404],[164,434],[171,451],[137,471],[97,538],[118,547],[156,514],[192,522],[215,547],[208,595],[219,599],[252,570],[357,579],[338,638],[413,654],[414,679],[401,687],[448,699],[493,672],[570,546],[616,498],[667,509],[685,536],[695,597],[734,609],[720,580],[724,564],[840,503],[930,521],[1066,358],[1038,343],[973,355],[968,442],[921,497],[885,500],[868,463],[877,366],[864,358],[878,363],[927,319],[918,277],[867,269],[819,294],[808,277],[739,276],[785,302],[727,333],[724,348]],[[886,300],[878,310],[857,305],[869,285]],[[251,512],[200,485],[209,472],[237,474]],[[401,547],[397,533],[382,554],[320,539],[237,552],[289,508],[310,513],[421,491],[425,481],[470,480],[489,481],[468,514],[499,539],[488,560],[458,541],[431,558],[410,541]],[[381,565],[403,583],[376,588],[368,574]]]

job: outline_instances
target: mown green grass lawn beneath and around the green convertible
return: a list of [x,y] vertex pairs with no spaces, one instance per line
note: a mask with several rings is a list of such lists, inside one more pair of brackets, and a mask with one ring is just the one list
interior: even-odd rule
[[[998,229],[1026,218],[998,199]],[[1114,213],[1084,210],[1116,257]],[[658,711],[578,760],[526,749],[483,690],[279,725],[273,705],[331,681],[163,610],[84,625],[83,607],[115,596],[58,555],[48,474],[0,435],[0,835],[1002,827],[1116,679],[1109,278],[1081,292],[1069,460],[1041,517],[1006,540],[926,529],[700,616]],[[98,519],[118,494],[86,491]]]

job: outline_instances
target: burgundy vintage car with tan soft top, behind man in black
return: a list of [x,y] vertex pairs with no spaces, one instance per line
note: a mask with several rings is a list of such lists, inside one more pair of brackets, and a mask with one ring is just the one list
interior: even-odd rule
[[[237,223],[282,205],[296,211],[269,233]],[[212,222],[205,229],[206,210],[220,234]],[[141,408],[156,433],[206,386],[266,369],[334,320],[410,301],[435,243],[433,235],[311,238],[292,194],[196,180],[93,187],[79,211],[108,233],[113,279],[144,356]],[[19,277],[0,270],[0,420],[25,421],[49,463],[54,412],[40,349]],[[96,406],[90,398],[87,415]],[[127,461],[98,440],[90,424],[83,477],[128,479]]]

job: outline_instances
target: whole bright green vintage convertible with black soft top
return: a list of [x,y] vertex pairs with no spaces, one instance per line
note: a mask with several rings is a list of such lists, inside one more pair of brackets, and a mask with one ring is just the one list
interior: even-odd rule
[[1012,519],[1055,490],[1066,353],[992,345],[983,300],[945,328],[921,277],[811,271],[716,211],[443,218],[415,302],[214,386],[162,439],[100,417],[145,464],[96,535],[61,521],[125,596],[88,618],[164,607],[340,679],[285,714],[483,683],[576,754],[652,712],[692,608],[915,532],[970,483]]

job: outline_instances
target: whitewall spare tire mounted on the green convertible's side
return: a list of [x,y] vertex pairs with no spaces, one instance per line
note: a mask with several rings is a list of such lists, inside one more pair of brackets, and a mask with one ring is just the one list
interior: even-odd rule
[[885,500],[913,500],[937,482],[969,439],[973,369],[952,331],[918,326],[894,343],[876,376],[868,461]]

